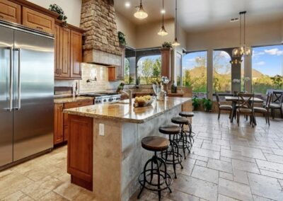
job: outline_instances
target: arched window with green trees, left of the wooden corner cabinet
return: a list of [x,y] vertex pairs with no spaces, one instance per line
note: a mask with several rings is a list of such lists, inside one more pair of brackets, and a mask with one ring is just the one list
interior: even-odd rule
[[161,81],[161,55],[141,57],[137,62],[139,84],[153,84]]

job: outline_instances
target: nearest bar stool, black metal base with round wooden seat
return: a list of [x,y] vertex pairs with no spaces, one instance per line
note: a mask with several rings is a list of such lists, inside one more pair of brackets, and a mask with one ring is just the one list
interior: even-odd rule
[[[161,191],[168,189],[172,193],[170,185],[172,183],[171,176],[167,173],[166,162],[157,156],[157,151],[165,151],[168,149],[170,141],[164,137],[149,136],[141,139],[141,147],[148,151],[154,151],[149,161],[144,165],[144,171],[139,175],[139,183],[141,184],[141,191],[137,198],[139,199],[144,188],[151,191],[158,192],[158,198],[161,200]],[[147,168],[147,166],[149,166]],[[161,168],[164,170],[161,170]],[[156,181],[157,178],[157,181]]]

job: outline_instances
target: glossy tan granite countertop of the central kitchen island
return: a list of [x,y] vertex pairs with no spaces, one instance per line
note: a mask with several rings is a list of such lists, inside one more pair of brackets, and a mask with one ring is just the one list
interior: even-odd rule
[[[144,108],[129,106],[129,100],[125,100],[118,103],[106,103],[67,109],[64,110],[63,113],[107,120],[119,120],[122,122],[144,123],[191,100],[192,98],[168,97],[166,101],[154,101],[150,106]],[[132,102],[134,103],[134,99]]]

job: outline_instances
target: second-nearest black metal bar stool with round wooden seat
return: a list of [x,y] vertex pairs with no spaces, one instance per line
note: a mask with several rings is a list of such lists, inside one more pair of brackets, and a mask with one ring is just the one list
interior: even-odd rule
[[[183,166],[181,164],[183,161],[183,156],[179,153],[178,144],[174,141],[174,139],[176,139],[175,136],[180,133],[180,127],[176,125],[162,125],[161,127],[159,127],[159,132],[169,135],[171,149],[166,149],[166,151],[162,151],[161,158],[164,159],[167,164],[173,165],[175,178],[177,178],[176,164],[180,164],[181,168],[183,169]],[[171,138],[171,136],[173,136],[173,139]]]

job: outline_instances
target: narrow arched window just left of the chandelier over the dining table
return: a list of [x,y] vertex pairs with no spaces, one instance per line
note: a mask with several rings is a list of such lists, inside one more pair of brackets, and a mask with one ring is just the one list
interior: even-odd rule
[[213,52],[213,91],[231,93],[231,57],[221,50]]

